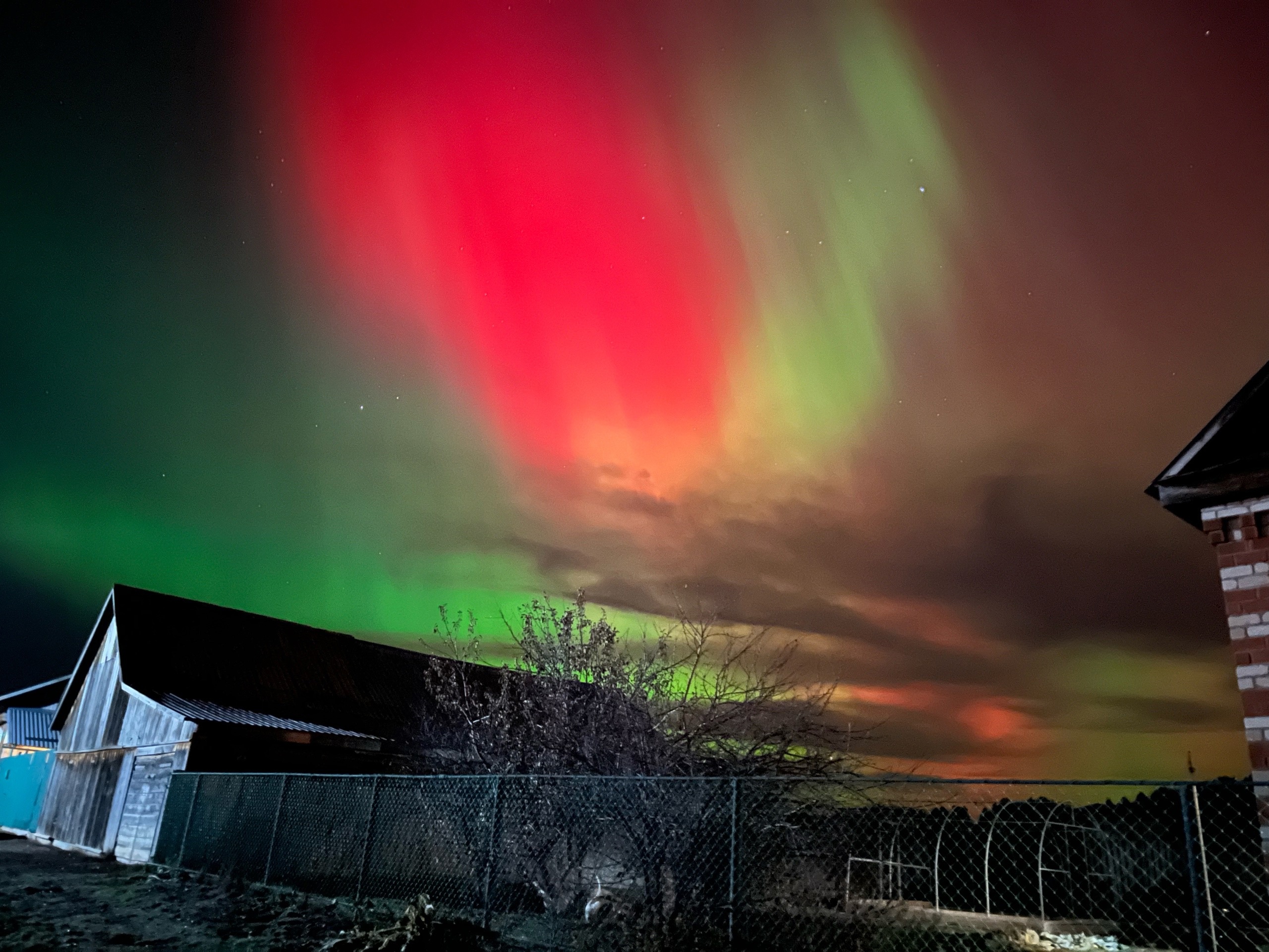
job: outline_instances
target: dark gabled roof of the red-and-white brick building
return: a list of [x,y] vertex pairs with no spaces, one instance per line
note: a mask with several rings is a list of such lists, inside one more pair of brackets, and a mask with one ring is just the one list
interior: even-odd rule
[[1233,395],[1146,493],[1200,526],[1200,510],[1269,494],[1269,363]]

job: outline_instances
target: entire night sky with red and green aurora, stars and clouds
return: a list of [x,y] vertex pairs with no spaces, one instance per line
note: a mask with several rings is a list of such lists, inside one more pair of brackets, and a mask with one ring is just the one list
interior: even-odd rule
[[1264,4],[28,4],[0,62],[0,692],[115,581],[402,645],[584,588],[797,637],[892,763],[1246,773],[1142,490],[1269,358]]

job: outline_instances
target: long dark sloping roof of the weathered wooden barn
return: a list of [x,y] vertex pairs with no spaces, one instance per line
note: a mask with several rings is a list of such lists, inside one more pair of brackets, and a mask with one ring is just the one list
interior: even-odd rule
[[[430,664],[463,664],[115,585],[58,706],[55,726],[61,727],[70,713],[112,618],[123,683],[195,722],[398,740],[411,731],[419,706],[426,702]],[[495,677],[494,669],[480,671]]]

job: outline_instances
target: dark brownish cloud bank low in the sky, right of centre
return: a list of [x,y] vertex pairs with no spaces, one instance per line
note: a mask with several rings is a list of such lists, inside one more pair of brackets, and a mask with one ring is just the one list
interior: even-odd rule
[[1175,697],[1142,675],[1126,696],[1086,696],[1046,670],[1046,652],[1090,644],[1208,664],[1225,633],[1206,539],[1142,494],[1147,473],[991,458],[957,486],[904,461],[863,506],[838,479],[673,505],[574,486],[586,519],[567,542],[522,547],[547,575],[584,572],[604,605],[802,638],[801,675],[841,684],[838,715],[874,725],[887,757],[999,758],[1057,727],[1227,727],[1223,694]]

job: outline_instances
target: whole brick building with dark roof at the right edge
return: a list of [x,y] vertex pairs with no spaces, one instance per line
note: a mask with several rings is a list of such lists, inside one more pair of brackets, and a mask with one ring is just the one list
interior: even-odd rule
[[[1216,548],[1253,777],[1269,782],[1269,364],[1146,491]],[[1263,824],[1269,852],[1269,811]]]

